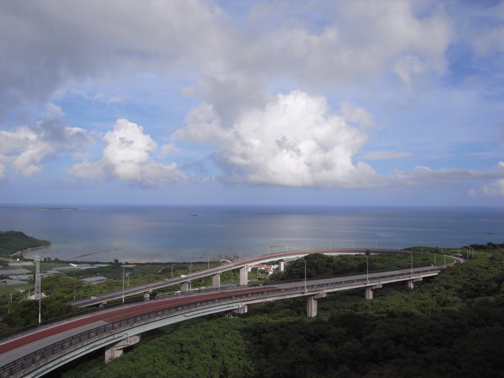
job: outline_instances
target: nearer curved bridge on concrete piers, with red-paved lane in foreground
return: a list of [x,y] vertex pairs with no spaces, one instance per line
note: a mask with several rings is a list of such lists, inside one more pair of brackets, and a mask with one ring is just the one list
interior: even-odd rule
[[227,316],[246,312],[247,305],[307,297],[307,315],[317,315],[317,299],[327,293],[364,288],[365,297],[372,298],[372,290],[383,284],[413,282],[439,274],[442,267],[423,267],[386,272],[364,273],[308,281],[292,281],[269,285],[248,285],[224,290],[201,290],[178,295],[160,295],[153,300],[127,302],[119,308],[103,307],[93,314],[41,326],[36,331],[9,335],[0,344],[0,378],[40,377],[86,353],[107,347],[106,360],[114,358],[122,349],[139,341],[148,330],[192,319],[215,312]]

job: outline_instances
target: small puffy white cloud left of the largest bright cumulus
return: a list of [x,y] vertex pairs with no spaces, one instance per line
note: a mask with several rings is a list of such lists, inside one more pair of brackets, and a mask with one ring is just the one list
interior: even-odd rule
[[75,164],[70,169],[72,174],[89,179],[113,177],[146,187],[185,178],[175,163],[161,164],[151,158],[157,144],[136,123],[118,119],[114,130],[107,132],[103,140],[107,143],[103,157],[96,162],[84,160]]

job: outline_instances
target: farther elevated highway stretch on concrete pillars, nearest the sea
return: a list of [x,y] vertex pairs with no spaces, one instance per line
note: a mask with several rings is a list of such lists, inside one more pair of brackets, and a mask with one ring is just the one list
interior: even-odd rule
[[76,307],[86,307],[92,306],[96,304],[105,304],[108,301],[120,298],[126,298],[132,295],[144,294],[144,298],[147,299],[149,297],[149,293],[161,289],[163,287],[172,286],[180,284],[180,290],[183,292],[189,291],[192,280],[196,280],[198,278],[203,278],[207,276],[213,277],[213,287],[220,287],[220,275],[223,272],[239,269],[240,270],[240,285],[246,285],[247,281],[247,271],[246,268],[252,264],[261,264],[269,261],[279,261],[279,269],[280,271],[284,270],[284,263],[288,259],[295,259],[298,257],[303,257],[310,254],[325,254],[325,255],[355,255],[355,254],[364,254],[366,251],[369,251],[371,254],[409,254],[409,252],[404,250],[397,249],[311,249],[311,250],[291,250],[285,251],[283,253],[275,253],[275,254],[267,254],[267,255],[257,255],[251,257],[244,257],[239,260],[235,260],[233,262],[227,262],[225,264],[221,264],[218,267],[212,267],[210,269],[203,269],[196,272],[191,272],[190,274],[185,274],[184,277],[172,277],[167,278],[162,281],[151,282],[144,285],[131,286],[128,288],[124,288],[124,290],[116,290],[105,294],[97,295],[93,298],[83,298],[69,302],[69,304]]

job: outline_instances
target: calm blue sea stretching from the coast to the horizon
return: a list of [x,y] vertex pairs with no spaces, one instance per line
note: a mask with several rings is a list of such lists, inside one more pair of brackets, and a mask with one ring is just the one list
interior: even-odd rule
[[52,246],[26,257],[189,261],[316,248],[503,243],[504,208],[83,206],[0,208],[0,230]]

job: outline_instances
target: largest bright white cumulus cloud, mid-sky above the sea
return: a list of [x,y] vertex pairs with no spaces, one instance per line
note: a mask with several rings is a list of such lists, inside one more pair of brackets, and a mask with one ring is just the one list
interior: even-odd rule
[[366,135],[328,110],[325,97],[293,91],[267,100],[226,127],[208,104],[173,138],[211,144],[224,180],[287,186],[366,187],[374,171],[352,163]]

